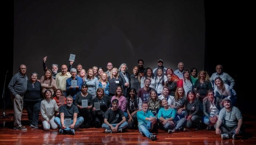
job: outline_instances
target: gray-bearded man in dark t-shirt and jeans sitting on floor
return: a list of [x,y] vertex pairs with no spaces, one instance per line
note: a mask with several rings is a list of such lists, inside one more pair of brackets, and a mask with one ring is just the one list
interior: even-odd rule
[[[73,105],[73,97],[66,97],[66,105],[60,107],[60,115],[54,118],[54,122],[60,127],[60,134],[73,134],[75,135],[75,129],[78,128],[84,121],[83,117],[77,118],[79,113],[77,106]],[[71,120],[70,120],[71,119]],[[66,126],[67,122],[70,122],[70,126]]]

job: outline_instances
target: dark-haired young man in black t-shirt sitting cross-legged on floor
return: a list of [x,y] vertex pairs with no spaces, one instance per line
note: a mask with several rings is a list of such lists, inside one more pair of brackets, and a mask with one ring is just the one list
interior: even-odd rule
[[105,129],[105,133],[117,133],[122,132],[122,129],[128,126],[124,112],[118,108],[118,99],[112,100],[112,107],[108,109],[102,128]]

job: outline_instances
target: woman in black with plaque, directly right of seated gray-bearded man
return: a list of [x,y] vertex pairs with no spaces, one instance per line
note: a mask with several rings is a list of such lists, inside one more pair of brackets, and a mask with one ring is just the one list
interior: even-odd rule
[[75,98],[75,106],[79,109],[79,114],[84,118],[84,122],[80,125],[80,128],[89,128],[92,125],[92,95],[87,92],[88,86],[85,84],[82,86],[82,93],[78,93]]

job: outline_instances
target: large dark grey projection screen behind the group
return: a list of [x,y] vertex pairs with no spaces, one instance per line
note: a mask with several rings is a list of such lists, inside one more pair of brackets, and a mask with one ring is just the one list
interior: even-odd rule
[[128,71],[144,60],[144,67],[177,69],[204,67],[205,17],[203,0],[179,1],[39,1],[15,0],[13,74],[20,64],[27,75],[44,74],[42,61],[60,67],[81,63],[106,71],[128,64]]

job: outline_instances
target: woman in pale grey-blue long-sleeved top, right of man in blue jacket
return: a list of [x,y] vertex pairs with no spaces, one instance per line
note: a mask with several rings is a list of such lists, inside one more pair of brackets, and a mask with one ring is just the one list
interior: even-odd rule
[[89,68],[87,70],[87,78],[85,79],[84,85],[85,84],[88,86],[88,93],[90,93],[94,98],[96,90],[99,87],[99,81],[97,78],[95,78],[95,74],[92,68]]

